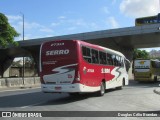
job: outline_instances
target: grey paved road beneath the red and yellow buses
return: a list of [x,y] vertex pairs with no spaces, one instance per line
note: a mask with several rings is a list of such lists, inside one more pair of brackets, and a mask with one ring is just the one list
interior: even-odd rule
[[159,84],[130,80],[122,90],[107,90],[103,97],[46,94],[40,88],[0,92],[0,111],[159,111],[160,95],[153,92]]

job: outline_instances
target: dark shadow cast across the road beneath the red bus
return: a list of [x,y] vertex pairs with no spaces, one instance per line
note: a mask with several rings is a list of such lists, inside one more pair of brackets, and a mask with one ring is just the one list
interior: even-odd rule
[[[130,80],[127,89],[134,88],[151,88],[158,87],[160,81],[156,83],[151,82],[137,82]],[[124,87],[125,88],[125,87]],[[110,92],[115,92],[117,89],[106,90],[106,94]],[[45,105],[59,105],[59,104],[68,104],[77,101],[82,101],[88,98],[98,97],[96,93],[80,94],[78,96],[70,96],[67,93],[63,94],[45,94],[40,91],[31,92],[31,93],[22,93],[7,95],[7,93],[0,94],[0,109],[1,108],[14,108],[14,107],[23,107],[23,106],[45,106]],[[101,97],[99,97],[101,99]]]

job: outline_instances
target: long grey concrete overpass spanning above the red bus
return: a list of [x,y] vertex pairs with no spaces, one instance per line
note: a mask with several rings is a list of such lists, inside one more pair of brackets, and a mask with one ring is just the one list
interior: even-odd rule
[[134,48],[160,47],[160,24],[19,41],[18,47],[0,49],[0,75],[3,75],[15,57],[33,56],[38,68],[41,43],[57,39],[84,40],[86,42],[118,50],[131,60]]

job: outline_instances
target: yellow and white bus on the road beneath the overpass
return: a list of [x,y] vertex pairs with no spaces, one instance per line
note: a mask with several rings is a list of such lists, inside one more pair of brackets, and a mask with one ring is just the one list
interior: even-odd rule
[[134,79],[136,81],[154,81],[160,76],[160,61],[154,59],[136,59],[134,61]]

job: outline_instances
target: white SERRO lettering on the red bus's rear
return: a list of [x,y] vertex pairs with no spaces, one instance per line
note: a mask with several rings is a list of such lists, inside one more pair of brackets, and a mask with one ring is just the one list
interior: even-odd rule
[[69,54],[69,50],[52,50],[52,51],[46,51],[46,56],[48,55],[66,55]]

